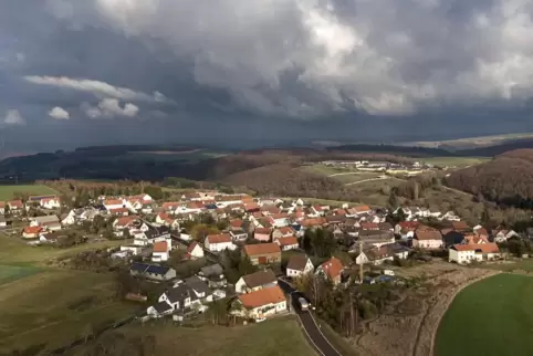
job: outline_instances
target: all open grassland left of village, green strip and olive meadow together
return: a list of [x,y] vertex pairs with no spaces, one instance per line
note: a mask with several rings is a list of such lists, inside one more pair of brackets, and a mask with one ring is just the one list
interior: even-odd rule
[[113,274],[45,266],[51,259],[111,244],[117,242],[30,247],[0,235],[0,355],[39,345],[50,350],[135,312],[138,305],[116,300]]

